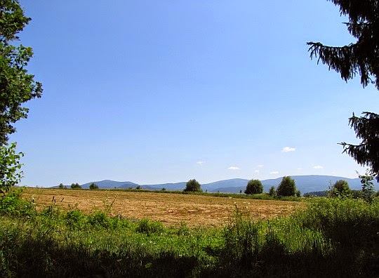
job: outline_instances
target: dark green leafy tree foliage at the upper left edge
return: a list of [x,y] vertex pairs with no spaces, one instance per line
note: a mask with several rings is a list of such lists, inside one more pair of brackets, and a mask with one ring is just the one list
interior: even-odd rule
[[13,124],[27,117],[29,109],[22,104],[42,93],[41,83],[26,69],[32,48],[16,43],[29,20],[18,0],[0,1],[0,146],[15,132]]

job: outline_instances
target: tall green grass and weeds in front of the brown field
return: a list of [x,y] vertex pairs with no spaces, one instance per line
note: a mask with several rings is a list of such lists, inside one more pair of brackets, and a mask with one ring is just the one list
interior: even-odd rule
[[245,199],[218,198],[232,202],[225,224],[171,225],[115,213],[116,201],[82,211],[27,194],[1,200],[1,277],[379,276],[378,199],[315,198],[257,218]]

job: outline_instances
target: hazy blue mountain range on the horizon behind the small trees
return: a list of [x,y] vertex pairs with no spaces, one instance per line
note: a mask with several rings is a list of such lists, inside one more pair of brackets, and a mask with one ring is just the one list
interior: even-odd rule
[[[319,175],[308,175],[308,176],[291,176],[295,180],[296,187],[302,194],[307,192],[317,192],[328,190],[328,187],[335,183],[337,180],[346,180],[349,183],[350,189],[361,190],[361,179],[360,178],[343,178],[337,176],[319,176]],[[268,192],[270,187],[277,187],[281,182],[282,178],[274,178],[268,180],[261,180],[263,185],[263,191]],[[180,183],[160,183],[160,184],[149,184],[140,185],[137,183],[132,183],[130,181],[120,182],[114,180],[100,180],[93,181],[90,183],[84,183],[81,185],[82,188],[89,188],[91,183],[98,185],[100,189],[126,189],[142,187],[146,190],[161,190],[165,188],[166,190],[184,190],[187,182]],[[224,192],[224,193],[239,193],[244,192],[248,180],[243,178],[233,178],[230,180],[218,180],[213,183],[206,183],[201,185],[201,189],[207,192]],[[378,183],[374,182],[375,188],[378,188]],[[57,186],[54,186],[57,187]],[[69,187],[69,185],[67,185]]]

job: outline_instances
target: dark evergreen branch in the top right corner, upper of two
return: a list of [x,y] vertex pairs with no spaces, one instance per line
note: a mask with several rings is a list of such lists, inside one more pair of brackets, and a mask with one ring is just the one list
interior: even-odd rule
[[308,42],[311,58],[319,56],[321,62],[328,65],[329,69],[339,72],[345,81],[354,78],[359,73],[364,87],[372,82],[379,89],[379,2],[376,0],[329,1],[340,6],[341,15],[347,15],[349,22],[345,22],[345,25],[357,42],[340,47],[325,46],[320,42]]

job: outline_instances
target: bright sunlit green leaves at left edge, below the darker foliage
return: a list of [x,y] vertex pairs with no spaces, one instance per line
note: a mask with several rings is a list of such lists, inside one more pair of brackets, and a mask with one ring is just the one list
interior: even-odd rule
[[12,186],[20,183],[22,171],[20,158],[22,152],[15,152],[16,143],[11,145],[0,145],[0,193],[6,194]]

